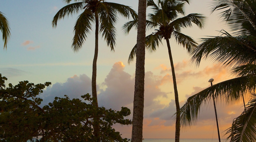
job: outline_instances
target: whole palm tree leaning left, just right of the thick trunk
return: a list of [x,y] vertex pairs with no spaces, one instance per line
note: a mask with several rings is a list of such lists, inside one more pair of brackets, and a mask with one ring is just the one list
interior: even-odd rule
[[[188,0],[158,0],[157,2],[158,3],[155,4],[153,0],[147,0],[147,7],[151,7],[153,13],[148,14],[149,20],[146,21],[146,25],[148,29],[156,28],[156,30],[154,33],[146,37],[145,46],[149,51],[152,52],[156,50],[156,47],[159,46],[159,43],[162,43],[162,39],[166,40],[173,75],[176,111],[179,112],[180,107],[178,99],[178,90],[169,39],[174,37],[178,44],[183,45],[184,48],[186,47],[188,52],[191,52],[192,49],[196,47],[196,41],[191,37],[180,33],[181,29],[192,27],[192,23],[195,23],[199,28],[203,28],[205,17],[201,14],[192,13],[185,17],[178,18],[179,14],[185,15],[184,5],[185,2],[189,3]],[[123,30],[129,33],[131,28],[136,26],[136,20],[130,21],[123,25]],[[137,45],[135,45],[134,48],[132,49],[128,63],[134,60],[136,48]],[[179,135],[180,119],[179,113],[177,113],[175,141],[179,141]]]

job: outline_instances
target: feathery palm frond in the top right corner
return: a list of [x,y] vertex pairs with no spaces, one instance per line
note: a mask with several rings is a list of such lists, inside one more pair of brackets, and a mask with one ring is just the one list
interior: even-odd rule
[[237,1],[237,0],[215,0],[212,4],[211,12],[222,10],[220,17],[226,21],[231,31],[237,35],[256,34],[256,1]]

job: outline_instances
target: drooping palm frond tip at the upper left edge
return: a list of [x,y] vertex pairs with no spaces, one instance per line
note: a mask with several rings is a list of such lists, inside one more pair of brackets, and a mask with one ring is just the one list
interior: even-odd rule
[[0,12],[0,30],[3,33],[3,40],[4,40],[4,49],[7,49],[7,42],[10,39],[10,27],[9,21],[4,16],[2,12]]

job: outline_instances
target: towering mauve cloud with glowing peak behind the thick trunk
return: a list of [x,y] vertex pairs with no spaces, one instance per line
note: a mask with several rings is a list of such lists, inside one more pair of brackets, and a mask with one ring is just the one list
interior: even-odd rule
[[[102,83],[102,85],[106,86],[106,89],[100,90],[98,95],[99,105],[113,109],[120,109],[122,106],[133,108],[135,78],[124,72],[124,67],[122,62],[117,62],[113,65]],[[167,93],[158,88],[162,83],[161,80],[161,76],[155,76],[152,72],[145,73],[145,111],[150,111],[152,109],[151,106],[154,105],[156,105],[154,107],[159,107],[159,102],[155,100],[157,97],[167,97]]]

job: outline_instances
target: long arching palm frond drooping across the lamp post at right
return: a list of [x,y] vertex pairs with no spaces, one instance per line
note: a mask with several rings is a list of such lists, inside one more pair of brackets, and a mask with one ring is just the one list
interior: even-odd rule
[[239,101],[241,95],[254,91],[256,88],[256,76],[243,76],[217,83],[188,98],[187,102],[180,108],[180,123],[183,128],[195,125],[200,108],[214,98],[216,101],[234,103]]

